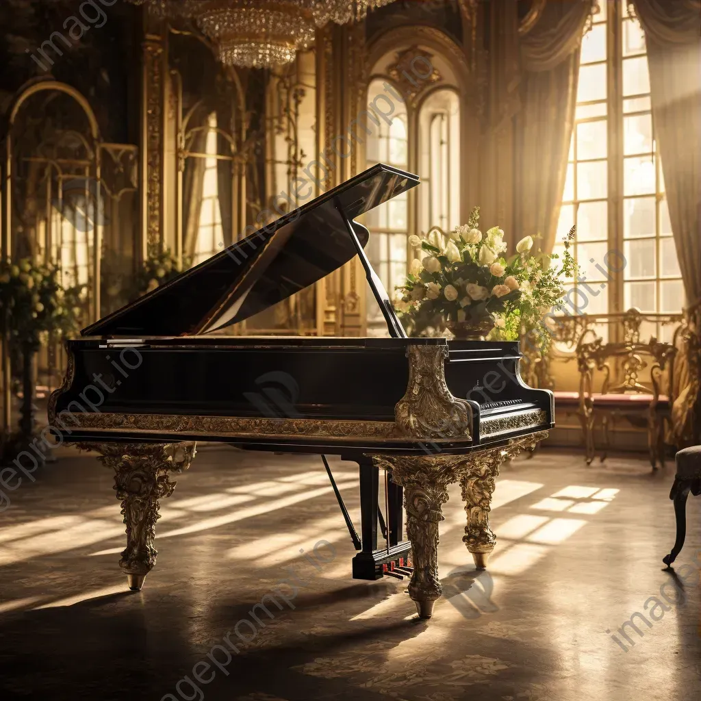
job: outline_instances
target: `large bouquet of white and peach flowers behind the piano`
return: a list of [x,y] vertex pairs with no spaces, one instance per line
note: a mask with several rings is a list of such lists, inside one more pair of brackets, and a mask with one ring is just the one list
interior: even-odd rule
[[507,256],[502,229],[495,226],[483,234],[479,207],[474,207],[468,223],[449,233],[432,229],[426,238],[409,237],[423,258],[414,259],[407,282],[397,287],[395,308],[414,335],[447,327],[456,336],[517,340],[533,331],[547,346],[550,334],[540,320],[560,308],[561,278],[576,272],[569,252],[574,232],[565,242],[562,265],[553,264],[557,254],[531,254],[531,236]]

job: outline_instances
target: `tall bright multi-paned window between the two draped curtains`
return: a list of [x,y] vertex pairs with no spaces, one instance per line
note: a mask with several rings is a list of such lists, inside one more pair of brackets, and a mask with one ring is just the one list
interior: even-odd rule
[[[644,32],[624,0],[599,0],[585,34],[555,252],[577,224],[578,311],[675,312],[681,273],[650,106]],[[655,329],[651,329],[655,332]]]

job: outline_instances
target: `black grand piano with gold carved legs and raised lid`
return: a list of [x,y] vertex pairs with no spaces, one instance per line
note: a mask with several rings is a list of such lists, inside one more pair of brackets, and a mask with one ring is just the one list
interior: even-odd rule
[[[518,343],[407,338],[365,255],[369,231],[354,219],[418,182],[376,165],[68,341],[49,422],[62,442],[97,451],[114,470],[130,589],[140,590],[156,563],[159,501],[197,441],[319,454],[358,550],[353,576],[411,576],[422,618],[442,593],[438,524],[453,482],[465,501],[463,541],[486,567],[499,465],[547,435],[553,398],[520,379]],[[222,334],[355,256],[388,338]],[[359,465],[360,536],[327,454]],[[235,469],[235,453],[231,460]]]

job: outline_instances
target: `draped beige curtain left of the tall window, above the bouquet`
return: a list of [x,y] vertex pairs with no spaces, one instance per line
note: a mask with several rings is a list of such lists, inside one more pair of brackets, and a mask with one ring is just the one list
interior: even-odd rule
[[579,54],[591,0],[547,3],[521,41],[518,116],[519,236],[540,234],[552,251],[567,171],[577,98]]

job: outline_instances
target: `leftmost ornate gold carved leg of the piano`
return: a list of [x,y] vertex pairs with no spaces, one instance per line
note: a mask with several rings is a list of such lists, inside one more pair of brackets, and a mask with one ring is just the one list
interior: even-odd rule
[[126,524],[127,547],[119,566],[132,592],[138,592],[156,564],[158,500],[170,496],[175,482],[168,472],[189,468],[194,443],[100,443],[86,449],[100,453],[100,461],[114,470],[114,489],[121,501]]

